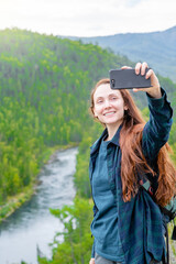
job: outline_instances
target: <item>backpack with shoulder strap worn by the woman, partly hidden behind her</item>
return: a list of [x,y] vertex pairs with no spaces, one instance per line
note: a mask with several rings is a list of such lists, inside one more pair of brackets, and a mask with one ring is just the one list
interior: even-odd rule
[[[150,180],[143,182],[140,180],[140,185],[151,195],[151,197],[154,199],[154,193],[153,188],[151,186]],[[158,206],[162,213],[164,215],[164,224],[166,228],[166,245],[167,245],[167,264],[169,264],[169,245],[168,245],[168,229],[167,223],[173,221],[174,229],[172,234],[172,240],[176,240],[176,196],[174,196],[169,204],[165,207]],[[167,219],[167,220],[165,220]]]

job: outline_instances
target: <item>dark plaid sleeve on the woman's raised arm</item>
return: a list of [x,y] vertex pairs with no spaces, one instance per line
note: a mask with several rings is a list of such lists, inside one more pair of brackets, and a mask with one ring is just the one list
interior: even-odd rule
[[[147,94],[146,94],[147,95]],[[173,123],[173,109],[167,101],[167,96],[162,89],[162,98],[151,98],[147,95],[150,120],[143,129],[142,150],[148,163],[153,163],[167,142]]]

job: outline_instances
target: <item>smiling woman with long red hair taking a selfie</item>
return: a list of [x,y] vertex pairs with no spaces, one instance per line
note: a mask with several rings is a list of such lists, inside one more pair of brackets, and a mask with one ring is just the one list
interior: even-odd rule
[[[135,74],[145,75],[146,68],[146,63],[138,63]],[[112,90],[109,79],[91,92],[90,110],[106,130],[90,151],[95,241],[89,264],[165,263],[163,217],[156,202],[165,206],[176,193],[166,143],[173,110],[152,69],[145,78],[152,87],[133,91],[146,92],[146,124],[130,92]],[[141,187],[146,179],[156,202]]]

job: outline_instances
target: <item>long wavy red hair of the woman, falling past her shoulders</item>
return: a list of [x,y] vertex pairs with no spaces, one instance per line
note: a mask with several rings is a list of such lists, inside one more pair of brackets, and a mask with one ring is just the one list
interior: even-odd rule
[[[91,91],[90,97],[90,111],[94,114],[94,95],[96,89],[103,84],[110,84],[110,80],[101,79],[97,82]],[[122,179],[122,194],[123,200],[130,201],[139,190],[138,174],[151,173],[153,176],[156,172],[147,164],[142,153],[142,132],[145,121],[139,108],[135,106],[129,90],[120,90],[124,105],[128,110],[124,112],[122,129],[120,132],[120,148],[122,152],[121,158],[121,179]],[[166,143],[158,152],[157,168],[158,168],[158,187],[155,193],[156,202],[165,206],[169,202],[170,198],[176,194],[176,169],[172,164],[168,156],[170,147]]]

